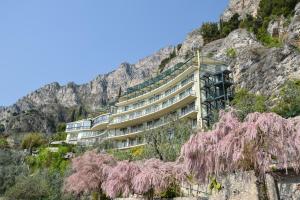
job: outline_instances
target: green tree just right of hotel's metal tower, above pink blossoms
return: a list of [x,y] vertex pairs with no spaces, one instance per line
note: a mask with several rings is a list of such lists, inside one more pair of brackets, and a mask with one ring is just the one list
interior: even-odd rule
[[238,90],[231,103],[234,108],[240,111],[241,118],[245,118],[249,113],[268,110],[266,97],[250,93],[246,89]]

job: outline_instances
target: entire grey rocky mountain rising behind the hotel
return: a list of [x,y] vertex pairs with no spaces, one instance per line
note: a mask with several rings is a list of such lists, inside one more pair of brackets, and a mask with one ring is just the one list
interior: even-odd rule
[[[231,0],[222,17],[228,18],[235,12],[255,16],[258,4],[259,0]],[[271,32],[281,28],[274,25],[274,21],[269,27]],[[182,44],[163,48],[136,64],[122,63],[115,71],[99,75],[87,84],[46,85],[14,105],[0,108],[0,124],[5,125],[8,133],[54,132],[59,122],[72,121],[78,116],[85,117],[87,113],[107,108],[116,100],[120,90],[154,76],[162,61],[168,60],[162,68],[167,69],[184,61],[194,49],[202,49],[203,55],[228,63],[237,88],[247,88],[267,96],[276,95],[286,80],[300,78],[300,4],[296,6],[289,25],[283,28],[278,30],[284,36],[283,45],[273,48],[261,44],[246,29],[237,29],[208,44],[204,44],[199,31],[193,31]],[[229,56],[228,50],[234,51],[235,55]]]

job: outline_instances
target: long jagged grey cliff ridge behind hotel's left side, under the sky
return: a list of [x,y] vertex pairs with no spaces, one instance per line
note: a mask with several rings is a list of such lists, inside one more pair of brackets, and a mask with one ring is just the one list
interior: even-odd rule
[[14,105],[0,108],[0,123],[6,132],[54,132],[58,122],[71,121],[74,112],[103,109],[125,90],[150,78],[174,47],[166,47],[136,64],[122,63],[115,71],[99,75],[87,84],[51,83],[28,94]]

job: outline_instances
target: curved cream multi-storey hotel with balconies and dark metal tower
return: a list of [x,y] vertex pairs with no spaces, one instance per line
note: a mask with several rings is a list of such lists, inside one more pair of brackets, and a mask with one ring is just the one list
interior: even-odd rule
[[142,133],[185,119],[193,128],[210,126],[216,111],[233,97],[231,71],[225,63],[200,54],[158,76],[128,88],[111,113],[67,124],[67,143],[92,145],[110,140],[113,148],[145,144]]

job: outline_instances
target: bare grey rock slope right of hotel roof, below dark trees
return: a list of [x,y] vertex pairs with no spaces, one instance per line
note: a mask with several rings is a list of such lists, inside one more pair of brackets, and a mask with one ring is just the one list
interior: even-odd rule
[[[229,49],[236,57],[227,55]],[[281,48],[267,48],[245,29],[233,31],[225,39],[207,44],[203,53],[229,63],[238,88],[266,96],[276,95],[290,78],[300,78],[300,54],[286,44]]]

